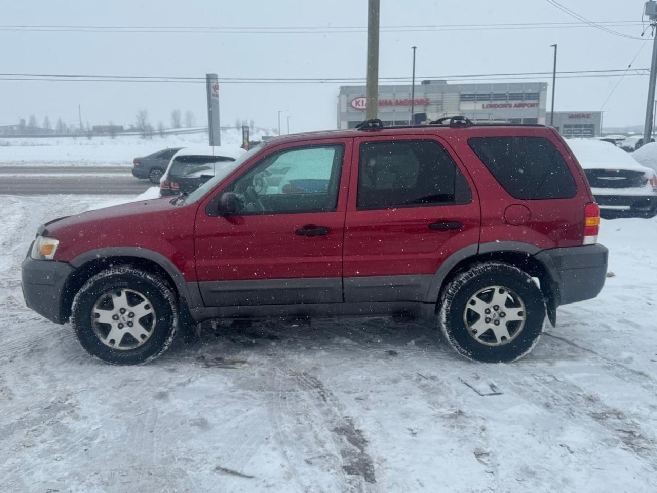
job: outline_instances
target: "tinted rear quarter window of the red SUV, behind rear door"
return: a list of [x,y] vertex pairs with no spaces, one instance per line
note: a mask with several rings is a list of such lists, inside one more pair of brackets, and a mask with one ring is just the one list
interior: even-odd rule
[[577,195],[568,164],[545,137],[471,137],[468,145],[514,199],[572,199]]

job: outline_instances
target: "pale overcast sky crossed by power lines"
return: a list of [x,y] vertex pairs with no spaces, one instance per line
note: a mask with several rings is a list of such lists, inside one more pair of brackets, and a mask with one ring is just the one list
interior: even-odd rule
[[[560,0],[595,21],[639,21],[643,0]],[[381,2],[381,26],[572,22],[547,0],[440,0]],[[2,24],[62,26],[366,26],[367,0],[179,2],[88,0],[3,2]],[[641,26],[614,27],[641,35]],[[645,41],[595,28],[382,32],[380,76],[411,74],[411,46],[417,45],[417,76],[549,72],[553,43],[558,70],[624,69],[645,43],[633,68],[649,68],[650,32]],[[364,33],[346,34],[161,34],[97,32],[0,32],[3,73],[220,77],[365,76]],[[1,77],[1,76],[0,76]],[[618,77],[557,80],[556,110],[596,111]],[[482,81],[484,82],[484,81]],[[545,80],[545,82],[551,81]],[[196,83],[27,82],[0,80],[0,124],[35,114],[39,123],[129,124],[145,108],[153,125],[170,122],[170,112],[191,109],[205,124],[205,89]],[[221,122],[253,119],[283,130],[336,126],[339,84],[222,84]],[[642,124],[647,76],[627,76],[604,106],[604,126]],[[548,92],[551,91],[549,85]],[[548,102],[549,108],[549,102]]]

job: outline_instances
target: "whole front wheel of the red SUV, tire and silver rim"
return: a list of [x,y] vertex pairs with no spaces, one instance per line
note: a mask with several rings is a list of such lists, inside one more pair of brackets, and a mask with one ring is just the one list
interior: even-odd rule
[[160,277],[131,266],[91,277],[73,300],[71,323],[82,347],[116,365],[147,363],[175,337],[175,296]]

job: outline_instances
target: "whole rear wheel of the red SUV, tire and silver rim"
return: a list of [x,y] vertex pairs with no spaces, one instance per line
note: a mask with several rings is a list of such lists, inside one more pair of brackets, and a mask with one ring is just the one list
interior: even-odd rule
[[443,335],[463,356],[507,363],[522,358],[538,342],[545,303],[527,273],[509,264],[486,262],[449,282],[439,314]]

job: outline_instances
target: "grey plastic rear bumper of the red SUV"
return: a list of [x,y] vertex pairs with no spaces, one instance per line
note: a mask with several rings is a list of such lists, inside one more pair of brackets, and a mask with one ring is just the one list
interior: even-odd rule
[[556,306],[598,296],[607,275],[609,250],[602,245],[550,248],[536,254],[549,270]]

